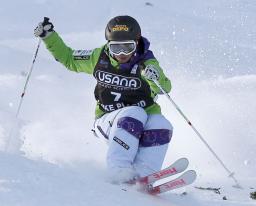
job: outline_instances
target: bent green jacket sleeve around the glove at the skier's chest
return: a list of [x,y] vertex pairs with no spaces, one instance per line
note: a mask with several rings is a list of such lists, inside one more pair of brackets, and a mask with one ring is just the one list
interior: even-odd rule
[[[145,66],[147,65],[153,65],[159,72],[159,84],[163,88],[164,91],[169,93],[171,91],[172,85],[171,81],[165,76],[162,68],[159,66],[159,62],[156,59],[149,59],[145,61]],[[150,80],[147,80],[148,84],[150,85],[151,90],[156,94],[161,94],[161,90],[158,88],[158,86]]]

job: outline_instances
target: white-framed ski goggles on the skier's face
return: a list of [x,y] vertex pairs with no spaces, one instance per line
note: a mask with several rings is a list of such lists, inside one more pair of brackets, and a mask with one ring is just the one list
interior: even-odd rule
[[110,41],[108,43],[108,48],[111,54],[114,55],[129,55],[136,50],[135,41]]

